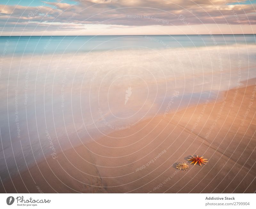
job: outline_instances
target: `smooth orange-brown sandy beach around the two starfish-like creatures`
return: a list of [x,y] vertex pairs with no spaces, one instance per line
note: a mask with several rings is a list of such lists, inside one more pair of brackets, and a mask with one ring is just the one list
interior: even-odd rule
[[[48,157],[0,192],[254,193],[255,81]],[[177,170],[190,155],[209,162]]]

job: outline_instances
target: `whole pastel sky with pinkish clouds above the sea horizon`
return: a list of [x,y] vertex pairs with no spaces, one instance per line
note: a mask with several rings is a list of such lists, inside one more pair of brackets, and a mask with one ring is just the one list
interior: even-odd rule
[[256,33],[256,0],[1,0],[0,35]]

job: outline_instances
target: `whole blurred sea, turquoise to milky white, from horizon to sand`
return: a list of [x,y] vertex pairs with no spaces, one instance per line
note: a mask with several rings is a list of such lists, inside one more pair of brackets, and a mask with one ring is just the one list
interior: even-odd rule
[[254,35],[0,37],[0,56],[2,180],[256,77]]

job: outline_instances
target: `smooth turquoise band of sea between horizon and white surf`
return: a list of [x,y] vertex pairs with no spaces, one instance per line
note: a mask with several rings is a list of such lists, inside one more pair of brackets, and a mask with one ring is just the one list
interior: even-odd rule
[[10,41],[8,55],[82,53],[103,50],[127,50],[139,48],[172,48],[255,44],[255,35],[156,35],[156,36],[2,36],[3,48]]

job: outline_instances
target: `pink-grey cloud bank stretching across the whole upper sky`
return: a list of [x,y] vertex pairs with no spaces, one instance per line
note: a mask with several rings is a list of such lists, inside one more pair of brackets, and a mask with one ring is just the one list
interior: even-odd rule
[[[237,2],[240,4],[228,4]],[[42,2],[38,7],[0,5],[0,25],[4,27],[3,31],[10,31],[14,27],[19,30],[24,28],[24,25],[26,30],[51,30],[54,24],[73,27],[74,30],[81,29],[81,25],[86,24],[122,27],[184,24],[256,25],[255,4],[243,4],[244,2],[246,1],[74,0],[74,4]],[[179,18],[180,16],[183,19]],[[70,26],[71,23],[74,25]]]

